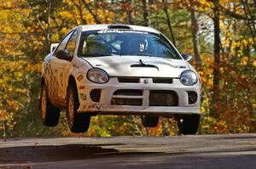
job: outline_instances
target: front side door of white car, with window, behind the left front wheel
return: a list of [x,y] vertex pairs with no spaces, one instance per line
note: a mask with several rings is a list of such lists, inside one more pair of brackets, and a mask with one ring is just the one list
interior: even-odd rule
[[66,37],[61,41],[60,45],[55,51],[53,58],[50,61],[52,72],[55,76],[54,84],[54,95],[55,95],[55,104],[65,106],[66,104],[66,82],[68,76],[68,70],[71,65],[72,59],[61,59],[56,56],[57,52],[61,49],[67,49],[70,57],[73,58],[74,49],[75,49],[75,42],[77,39],[77,31],[71,31],[67,34]]

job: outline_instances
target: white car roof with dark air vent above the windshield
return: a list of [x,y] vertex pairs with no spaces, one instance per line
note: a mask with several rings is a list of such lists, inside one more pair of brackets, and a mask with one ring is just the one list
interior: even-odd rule
[[[132,31],[148,31],[152,33],[160,34],[160,31],[155,30],[151,27],[140,26],[140,25],[117,25],[120,28],[111,28],[112,24],[100,24],[100,25],[79,25],[78,28],[81,31],[95,31],[95,30],[109,30],[109,29],[122,29],[122,26],[130,27]],[[113,26],[115,26],[113,24]]]

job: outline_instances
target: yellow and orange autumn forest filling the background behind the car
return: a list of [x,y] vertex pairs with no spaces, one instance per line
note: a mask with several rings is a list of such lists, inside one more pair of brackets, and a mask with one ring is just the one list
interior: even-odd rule
[[[0,0],[0,137],[72,135],[38,111],[42,60],[76,25],[124,23],[162,31],[201,74],[201,129],[256,132],[256,4],[253,0]],[[96,116],[87,136],[176,135],[176,122],[144,128],[137,116]]]

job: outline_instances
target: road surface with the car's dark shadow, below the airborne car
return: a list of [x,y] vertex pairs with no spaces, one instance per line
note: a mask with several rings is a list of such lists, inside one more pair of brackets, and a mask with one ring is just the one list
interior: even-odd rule
[[256,134],[0,139],[2,168],[256,168]]

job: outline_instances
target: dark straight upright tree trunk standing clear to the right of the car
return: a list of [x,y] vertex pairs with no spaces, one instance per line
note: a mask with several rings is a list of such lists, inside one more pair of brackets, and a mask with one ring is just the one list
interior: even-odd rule
[[219,102],[219,65],[220,65],[220,26],[219,26],[219,0],[212,0],[213,7],[213,25],[214,25],[214,64],[213,64],[213,95],[212,95],[212,110],[213,116],[218,117],[218,102]]

